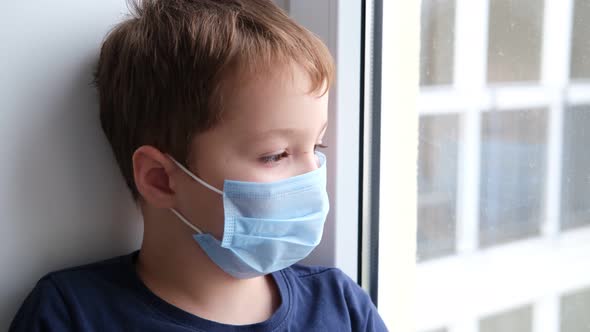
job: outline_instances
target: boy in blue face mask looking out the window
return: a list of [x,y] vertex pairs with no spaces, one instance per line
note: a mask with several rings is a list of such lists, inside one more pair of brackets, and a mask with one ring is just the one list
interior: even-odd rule
[[386,330],[342,272],[295,264],[329,209],[326,47],[271,0],[132,9],[95,81],[141,249],[48,274],[10,330]]

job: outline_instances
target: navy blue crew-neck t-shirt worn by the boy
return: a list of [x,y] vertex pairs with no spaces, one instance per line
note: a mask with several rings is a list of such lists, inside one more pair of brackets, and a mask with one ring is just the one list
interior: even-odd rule
[[368,295],[335,268],[294,265],[272,274],[281,305],[267,320],[226,325],[152,293],[135,271],[138,251],[43,277],[10,331],[387,331]]

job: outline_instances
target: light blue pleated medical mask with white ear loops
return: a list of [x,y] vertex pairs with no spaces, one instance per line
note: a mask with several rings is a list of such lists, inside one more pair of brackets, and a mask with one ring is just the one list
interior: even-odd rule
[[275,182],[225,180],[223,191],[172,159],[195,181],[223,196],[223,239],[202,232],[175,209],[197,234],[195,241],[226,273],[245,279],[289,267],[320,243],[329,210],[326,156],[316,152],[319,167]]

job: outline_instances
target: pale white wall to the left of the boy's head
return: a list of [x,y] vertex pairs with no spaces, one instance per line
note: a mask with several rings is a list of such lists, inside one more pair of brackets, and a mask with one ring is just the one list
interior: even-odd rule
[[45,273],[139,244],[90,85],[123,3],[0,2],[0,331]]

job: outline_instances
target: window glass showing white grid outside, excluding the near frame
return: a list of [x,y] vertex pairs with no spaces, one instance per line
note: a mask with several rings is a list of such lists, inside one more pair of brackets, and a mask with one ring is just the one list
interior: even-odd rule
[[590,332],[590,288],[555,288],[590,285],[590,88],[561,77],[590,79],[590,1],[572,2],[422,3],[417,331]]

